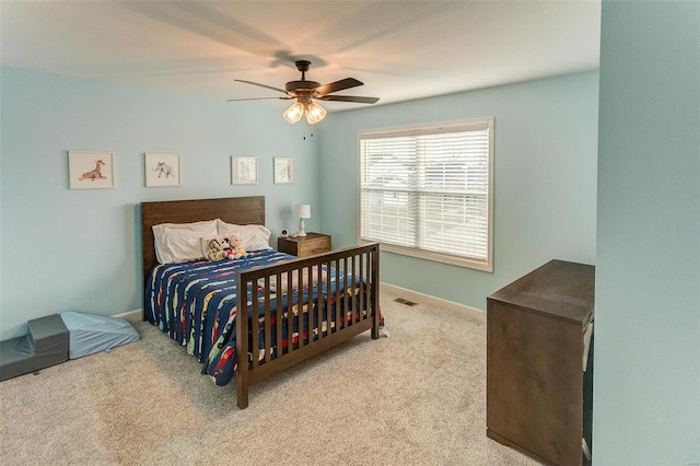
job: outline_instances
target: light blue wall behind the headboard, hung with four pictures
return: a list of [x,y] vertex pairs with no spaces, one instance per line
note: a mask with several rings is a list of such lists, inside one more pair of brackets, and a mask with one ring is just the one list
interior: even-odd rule
[[[283,107],[11,68],[0,78],[0,339],[65,310],[141,308],[141,201],[265,195],[273,234],[296,225],[294,202],[318,205],[316,139],[303,140]],[[114,151],[116,187],[68,189],[69,150]],[[179,153],[183,186],[145,188],[144,152]],[[231,155],[258,156],[260,182],[232,186]],[[296,184],[272,184],[273,156],[296,158]],[[314,215],[308,229],[318,222]]]

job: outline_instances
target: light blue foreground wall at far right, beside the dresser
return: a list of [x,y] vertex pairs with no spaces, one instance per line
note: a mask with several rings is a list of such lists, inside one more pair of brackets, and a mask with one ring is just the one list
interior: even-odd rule
[[604,1],[593,453],[700,463],[700,2]]

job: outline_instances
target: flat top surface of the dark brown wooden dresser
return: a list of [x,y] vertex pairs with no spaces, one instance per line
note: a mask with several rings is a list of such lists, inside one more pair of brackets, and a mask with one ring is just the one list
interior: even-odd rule
[[491,294],[488,300],[585,324],[592,315],[595,267],[550,260]]

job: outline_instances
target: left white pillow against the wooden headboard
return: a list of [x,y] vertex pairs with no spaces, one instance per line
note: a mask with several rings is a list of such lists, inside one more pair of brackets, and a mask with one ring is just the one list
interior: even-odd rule
[[217,235],[217,220],[153,225],[155,258],[161,264],[200,259],[202,236]]

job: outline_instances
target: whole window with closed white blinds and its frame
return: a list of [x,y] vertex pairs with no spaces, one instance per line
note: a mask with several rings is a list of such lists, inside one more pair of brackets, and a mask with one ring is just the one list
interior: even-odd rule
[[493,118],[358,138],[361,241],[493,271]]

